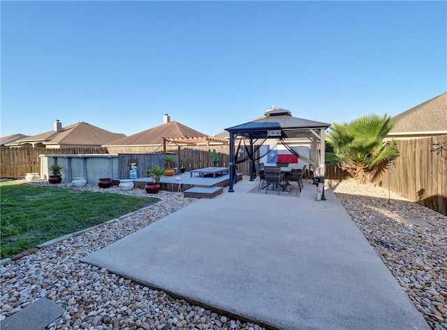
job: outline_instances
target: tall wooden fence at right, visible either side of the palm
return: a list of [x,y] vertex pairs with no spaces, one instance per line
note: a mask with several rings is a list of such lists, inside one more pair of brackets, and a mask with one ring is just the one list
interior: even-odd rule
[[[447,150],[431,152],[434,141],[447,141],[447,135],[397,141],[400,156],[385,164],[373,182],[400,196],[447,215]],[[328,180],[349,180],[346,171],[326,166]]]

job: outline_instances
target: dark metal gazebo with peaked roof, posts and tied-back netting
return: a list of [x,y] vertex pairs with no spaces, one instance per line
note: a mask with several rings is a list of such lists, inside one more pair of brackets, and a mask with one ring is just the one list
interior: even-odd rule
[[[259,143],[259,140],[263,143],[265,139],[275,138],[281,141],[294,155],[313,165],[318,173],[319,181],[324,183],[325,130],[328,127],[330,127],[328,123],[292,117],[290,110],[272,107],[272,109],[265,111],[263,117],[225,129],[230,134],[230,186],[228,192],[234,192],[235,138],[237,137],[249,140],[250,180],[253,180],[253,168],[255,166],[254,144]],[[308,139],[311,143],[310,157],[298,155],[297,152],[288,147],[288,141],[297,138]],[[320,143],[319,150],[318,142]]]

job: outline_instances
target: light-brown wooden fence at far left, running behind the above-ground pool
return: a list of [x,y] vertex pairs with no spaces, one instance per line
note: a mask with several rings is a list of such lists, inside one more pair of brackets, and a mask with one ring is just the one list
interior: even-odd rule
[[107,154],[106,148],[0,149],[1,178],[23,178],[27,173],[41,173],[39,155]]

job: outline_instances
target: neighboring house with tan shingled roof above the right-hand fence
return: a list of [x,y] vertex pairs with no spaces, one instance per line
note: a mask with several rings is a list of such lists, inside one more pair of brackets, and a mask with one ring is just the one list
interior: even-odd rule
[[397,140],[447,134],[447,92],[393,117],[388,138]]

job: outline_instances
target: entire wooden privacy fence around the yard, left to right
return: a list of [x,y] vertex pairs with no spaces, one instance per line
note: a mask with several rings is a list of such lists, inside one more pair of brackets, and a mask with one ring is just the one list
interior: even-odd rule
[[[412,140],[397,141],[400,156],[395,159],[390,167],[390,190],[400,196],[421,203],[424,206],[437,210],[439,213],[447,214],[447,150],[442,155],[430,152],[434,141],[447,141],[447,135],[432,138],[417,138]],[[195,168],[213,166],[212,157],[208,150],[216,150],[221,155],[219,166],[228,166],[230,149],[229,145],[175,145],[168,147],[169,152],[177,154],[186,171]],[[126,150],[108,150],[107,148],[68,148],[60,150],[47,149],[0,149],[1,178],[23,178],[26,173],[41,171],[39,155],[45,154],[147,154],[149,152],[161,152],[159,147],[147,147],[144,149],[126,148]],[[244,157],[244,155],[240,155]],[[131,159],[132,157],[128,157]],[[133,157],[136,158],[136,157]],[[122,168],[127,166],[122,164]],[[178,159],[178,158],[177,158]],[[145,171],[152,164],[144,157],[138,161],[138,176],[145,175]],[[147,164],[145,164],[147,162]],[[161,163],[161,158],[156,161]],[[179,164],[175,164],[179,167]],[[124,170],[123,170],[124,171]],[[127,168],[126,168],[127,171]],[[249,175],[249,162],[237,164],[237,171],[243,175]],[[122,173],[124,175],[124,172]],[[129,175],[129,173],[127,173]],[[326,166],[325,178],[328,180],[349,180],[350,175],[336,166]],[[388,167],[384,167],[374,179],[374,183],[381,187],[388,187]]]

